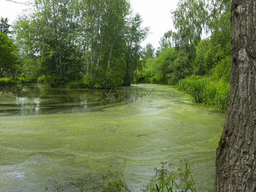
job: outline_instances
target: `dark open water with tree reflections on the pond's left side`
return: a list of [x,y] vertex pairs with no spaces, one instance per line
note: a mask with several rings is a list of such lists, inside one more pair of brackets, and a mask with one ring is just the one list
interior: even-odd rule
[[[0,87],[0,114],[40,115],[75,112],[105,105],[102,90],[54,89],[47,85]],[[8,109],[8,110],[7,110]]]

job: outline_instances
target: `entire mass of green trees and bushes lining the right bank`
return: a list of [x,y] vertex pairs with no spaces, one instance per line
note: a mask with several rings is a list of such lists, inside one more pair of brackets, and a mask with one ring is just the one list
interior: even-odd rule
[[[138,73],[142,82],[152,83],[149,79],[154,77],[158,83],[176,85],[179,79],[196,74],[228,83],[230,6],[228,0],[212,0],[208,4],[201,0],[180,0],[171,11],[175,31],[166,32],[159,41],[156,57],[144,62],[147,65]],[[209,37],[201,39],[203,31]]]

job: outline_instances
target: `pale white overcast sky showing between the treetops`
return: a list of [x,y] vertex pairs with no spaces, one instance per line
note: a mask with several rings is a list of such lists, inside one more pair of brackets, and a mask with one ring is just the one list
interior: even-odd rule
[[[13,0],[16,2],[27,2],[29,0]],[[141,43],[152,43],[154,48],[159,47],[158,41],[164,33],[173,29],[171,20],[171,9],[175,9],[178,0],[130,0],[134,13],[138,12],[143,19],[143,26],[150,27],[148,38]],[[27,7],[10,1],[0,0],[0,17],[8,17],[9,24],[13,23],[17,16]]]

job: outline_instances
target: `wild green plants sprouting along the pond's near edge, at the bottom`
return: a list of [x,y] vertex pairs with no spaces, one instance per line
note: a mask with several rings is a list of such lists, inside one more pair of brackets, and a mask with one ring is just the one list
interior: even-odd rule
[[[181,163],[185,163],[185,170],[178,168],[177,170],[166,162],[161,162],[161,167],[155,168],[156,174],[154,178],[149,182],[146,189],[141,190],[143,192],[197,192],[194,179],[192,177],[188,161],[184,160]],[[109,171],[107,176],[103,176],[103,180],[107,180],[107,184],[103,185],[103,192],[132,192],[127,185],[120,179],[123,175],[118,173],[111,173]],[[86,189],[85,180],[79,179],[78,182],[67,182],[79,189],[79,192],[88,191]],[[46,188],[46,191],[49,191]],[[61,192],[63,190],[62,185],[56,185],[53,187],[53,191]]]

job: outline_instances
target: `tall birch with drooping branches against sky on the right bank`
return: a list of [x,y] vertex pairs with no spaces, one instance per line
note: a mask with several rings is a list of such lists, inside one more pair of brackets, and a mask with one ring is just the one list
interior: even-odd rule
[[171,37],[178,52],[168,74],[169,84],[176,84],[179,79],[191,75],[196,57],[196,46],[201,40],[202,28],[207,21],[208,12],[201,0],[180,0],[177,8],[171,12],[176,31],[169,31],[165,37]]

